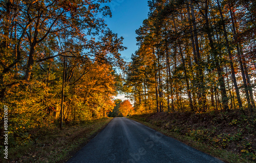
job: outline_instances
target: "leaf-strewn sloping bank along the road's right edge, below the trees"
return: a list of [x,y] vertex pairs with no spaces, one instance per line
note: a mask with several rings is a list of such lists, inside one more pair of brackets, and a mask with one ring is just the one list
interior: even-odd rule
[[156,113],[131,118],[225,162],[256,160],[255,115]]

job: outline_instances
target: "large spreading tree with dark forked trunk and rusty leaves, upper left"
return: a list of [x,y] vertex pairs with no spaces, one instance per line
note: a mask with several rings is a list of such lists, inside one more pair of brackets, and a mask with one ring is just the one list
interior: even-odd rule
[[[4,84],[4,76],[8,72],[11,72],[18,63],[22,63],[26,67],[23,77],[29,82],[35,63],[63,56],[63,54],[67,53],[71,53],[72,57],[87,57],[87,53],[80,53],[80,56],[74,55],[77,51],[73,50],[77,49],[63,48],[59,41],[66,42],[68,40],[70,44],[79,42],[79,50],[88,50],[89,46],[86,46],[88,45],[87,42],[91,42],[88,41],[87,37],[96,36],[105,29],[104,20],[98,15],[101,14],[103,17],[111,15],[109,7],[102,7],[100,5],[104,2],[106,1],[5,1],[5,3],[1,4],[1,11],[3,13],[8,12],[9,14],[5,14],[5,17],[10,19],[7,20],[10,21],[8,23],[9,25],[3,26],[2,28],[3,31],[9,32],[4,32],[3,36],[10,40],[8,41],[8,47],[11,47],[15,52],[12,62],[2,64],[2,66],[5,65],[2,67],[0,76],[2,81],[1,86],[3,87],[2,99],[4,98],[6,87],[10,85]],[[3,22],[6,21],[5,18],[1,20]],[[106,30],[105,35],[113,36],[114,34]],[[54,51],[51,56],[45,56],[39,47],[43,45],[42,43],[45,40],[50,38],[55,39],[55,42],[58,41],[55,45],[59,45],[60,47],[58,47],[58,52]],[[56,38],[59,39],[57,40]],[[6,41],[2,41],[3,45],[6,44],[4,42]],[[113,42],[113,44],[116,43]],[[5,49],[5,47],[2,49]],[[113,47],[114,49],[115,47]],[[8,51],[10,52],[10,50]],[[115,59],[119,58],[115,51],[110,52],[113,52],[112,55]],[[6,57],[13,56],[7,53],[7,51],[3,55]],[[96,57],[93,53],[90,53],[89,56]],[[90,59],[93,59],[91,57]],[[101,59],[103,57],[101,56]],[[109,61],[111,58],[104,57],[103,59],[108,59]]]

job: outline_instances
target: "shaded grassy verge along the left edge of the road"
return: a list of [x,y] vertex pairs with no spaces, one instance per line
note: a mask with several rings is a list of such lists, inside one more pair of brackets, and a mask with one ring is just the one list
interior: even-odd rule
[[0,162],[66,162],[111,120],[103,118],[45,131],[34,142],[10,148],[8,161],[2,157]]

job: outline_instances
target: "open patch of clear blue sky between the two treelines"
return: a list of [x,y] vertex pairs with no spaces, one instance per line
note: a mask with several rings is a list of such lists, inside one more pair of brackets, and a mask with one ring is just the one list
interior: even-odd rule
[[112,0],[108,6],[112,18],[105,18],[106,24],[110,30],[124,38],[123,46],[127,49],[121,51],[121,55],[130,62],[132,53],[138,49],[135,30],[142,25],[149,11],[147,0]]

